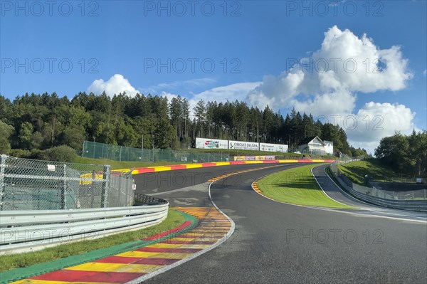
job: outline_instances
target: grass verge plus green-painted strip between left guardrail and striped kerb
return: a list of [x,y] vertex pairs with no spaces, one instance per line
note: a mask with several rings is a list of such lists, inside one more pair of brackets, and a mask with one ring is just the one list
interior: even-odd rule
[[[141,238],[154,236],[157,233],[169,231],[180,226],[184,221],[191,221],[191,225],[168,236],[155,241],[142,241]],[[117,233],[112,236],[98,238],[92,241],[80,241],[65,243],[53,248],[45,248],[31,253],[0,256],[0,283],[29,278],[54,270],[95,261],[107,256],[115,256],[119,253],[132,251],[137,248],[149,246],[152,243],[173,238],[181,233],[191,230],[197,225],[194,216],[181,211],[169,209],[167,219],[159,225],[143,228],[137,231]]]

